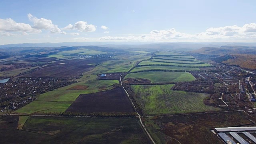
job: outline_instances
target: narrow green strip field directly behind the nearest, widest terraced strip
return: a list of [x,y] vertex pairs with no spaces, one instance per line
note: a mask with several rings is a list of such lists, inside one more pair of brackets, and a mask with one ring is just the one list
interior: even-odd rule
[[137,72],[140,70],[200,70],[199,68],[186,68],[186,67],[178,67],[178,66],[139,66],[135,67],[131,72]]

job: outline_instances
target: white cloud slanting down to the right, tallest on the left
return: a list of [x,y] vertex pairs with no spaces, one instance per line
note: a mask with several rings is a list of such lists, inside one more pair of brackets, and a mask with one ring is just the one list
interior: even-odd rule
[[34,23],[32,28],[36,28],[38,30],[50,30],[51,33],[55,34],[66,34],[66,32],[62,32],[57,25],[52,23],[52,20],[47,20],[45,18],[37,18],[32,14],[28,14],[28,19]]

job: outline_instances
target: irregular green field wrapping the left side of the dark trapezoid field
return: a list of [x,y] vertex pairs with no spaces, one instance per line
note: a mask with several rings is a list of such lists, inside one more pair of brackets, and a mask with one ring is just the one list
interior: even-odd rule
[[59,90],[40,94],[37,100],[16,110],[15,113],[32,114],[35,112],[64,112],[80,94],[110,90],[115,83],[119,83],[118,80],[89,80],[83,84],[88,86],[86,90],[66,90],[77,86],[77,84],[66,86]]

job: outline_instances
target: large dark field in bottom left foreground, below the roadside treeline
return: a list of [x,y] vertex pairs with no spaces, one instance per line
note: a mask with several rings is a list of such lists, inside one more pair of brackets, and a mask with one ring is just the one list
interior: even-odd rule
[[30,116],[23,130],[16,129],[18,119],[18,116],[6,116],[0,119],[1,143],[150,143],[136,118]]

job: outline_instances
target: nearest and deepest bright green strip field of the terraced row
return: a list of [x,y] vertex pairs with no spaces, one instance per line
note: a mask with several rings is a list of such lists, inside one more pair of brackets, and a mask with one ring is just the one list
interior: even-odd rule
[[190,82],[195,80],[189,72],[138,72],[127,74],[125,78],[144,78],[156,82]]

